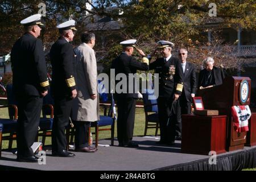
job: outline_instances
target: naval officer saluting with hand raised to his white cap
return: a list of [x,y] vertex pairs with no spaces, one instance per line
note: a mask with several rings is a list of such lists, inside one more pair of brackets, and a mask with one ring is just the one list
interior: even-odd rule
[[[143,56],[142,62],[137,61],[132,55],[137,40],[131,39],[121,42],[123,52],[112,63],[112,69],[115,69],[115,75],[123,73],[127,78],[126,93],[116,94],[118,118],[117,118],[117,138],[121,147],[138,147],[138,144],[132,142],[135,106],[138,98],[138,92],[135,90],[135,80],[130,81],[133,85],[129,85],[129,73],[137,73],[137,70],[148,70],[148,59],[141,49],[137,49],[139,54]],[[115,82],[115,84],[117,84]],[[129,93],[129,87],[133,86],[133,90]]]

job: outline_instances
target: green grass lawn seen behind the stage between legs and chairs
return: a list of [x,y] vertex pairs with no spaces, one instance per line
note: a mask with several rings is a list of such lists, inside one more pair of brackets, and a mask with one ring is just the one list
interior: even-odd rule
[[[103,115],[103,109],[101,108],[101,114]],[[0,118],[9,118],[7,108],[0,109]],[[104,127],[101,127],[104,128]],[[145,115],[143,108],[136,108],[135,114],[135,125],[134,125],[134,136],[141,136],[144,135],[144,128],[145,128]],[[94,129],[92,128],[92,132]],[[159,132],[160,133],[160,132]],[[155,129],[148,129],[147,135],[154,135]],[[6,134],[5,134],[6,135]],[[5,136],[3,135],[3,136]],[[115,121],[115,138],[117,137],[117,122]],[[110,138],[110,131],[100,131],[99,132],[99,139],[107,139]],[[93,140],[95,139],[93,135]],[[39,137],[40,140],[40,137]],[[9,142],[4,140],[2,143],[2,149],[6,149],[8,147]],[[46,145],[51,144],[51,137],[46,138]],[[13,142],[13,148],[16,147],[16,141]]]

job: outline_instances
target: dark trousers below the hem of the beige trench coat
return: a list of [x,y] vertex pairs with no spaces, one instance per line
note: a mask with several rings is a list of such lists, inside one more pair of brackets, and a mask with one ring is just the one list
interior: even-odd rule
[[89,134],[88,129],[90,127],[90,122],[85,121],[74,121],[75,125],[75,146],[76,149],[89,147]]

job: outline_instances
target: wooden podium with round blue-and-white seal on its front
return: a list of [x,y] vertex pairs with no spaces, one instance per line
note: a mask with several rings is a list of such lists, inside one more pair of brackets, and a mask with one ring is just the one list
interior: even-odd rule
[[237,133],[234,130],[231,107],[250,105],[250,89],[249,77],[226,77],[222,85],[199,90],[205,109],[218,110],[220,115],[228,117],[226,123],[227,151],[242,149],[246,143],[246,132]]

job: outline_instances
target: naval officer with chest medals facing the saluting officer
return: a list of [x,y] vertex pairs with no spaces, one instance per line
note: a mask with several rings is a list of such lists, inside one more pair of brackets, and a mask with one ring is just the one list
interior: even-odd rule
[[[160,40],[158,44],[163,57],[149,64],[150,69],[155,69],[156,73],[159,73],[158,115],[160,141],[157,143],[173,145],[176,135],[174,127],[176,121],[174,121],[175,119],[168,121],[168,119],[172,102],[179,98],[183,89],[182,68],[179,59],[171,54],[174,43]],[[151,55],[148,58],[151,59]]]

